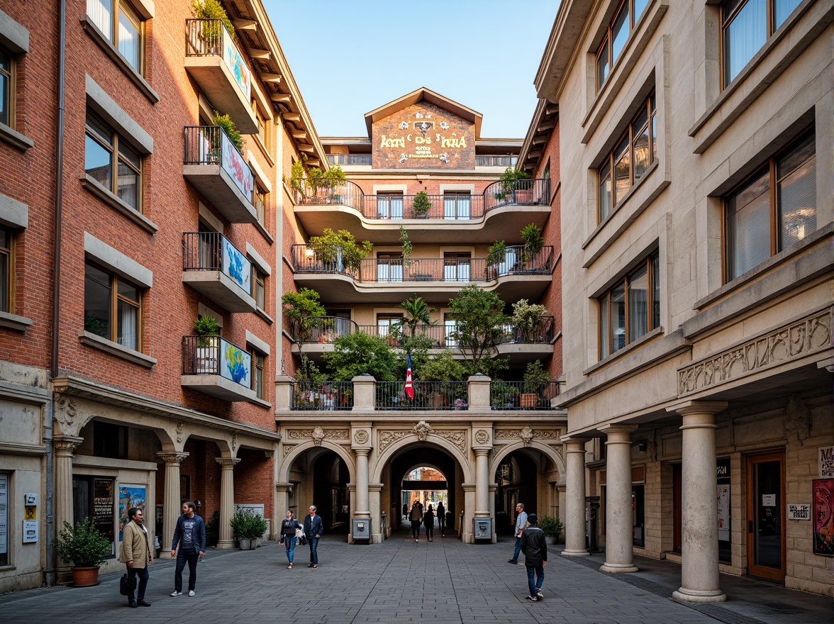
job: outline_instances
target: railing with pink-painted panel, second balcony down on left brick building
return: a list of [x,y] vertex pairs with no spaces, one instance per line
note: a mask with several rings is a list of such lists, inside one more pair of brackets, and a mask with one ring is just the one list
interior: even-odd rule
[[183,164],[219,164],[249,204],[254,201],[255,178],[243,155],[219,126],[186,126]]

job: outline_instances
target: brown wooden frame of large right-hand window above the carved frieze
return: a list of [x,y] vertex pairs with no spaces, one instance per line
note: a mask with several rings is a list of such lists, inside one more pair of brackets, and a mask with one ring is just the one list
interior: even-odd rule
[[[733,279],[737,279],[741,277],[741,275],[745,274],[746,271],[743,271],[733,277],[730,275],[730,266],[729,266],[729,249],[728,246],[730,244],[730,231],[727,225],[727,218],[728,218],[728,210],[727,204],[729,199],[734,196],[740,189],[746,187],[747,184],[756,177],[761,176],[761,174],[766,170],[768,176],[768,198],[769,198],[769,213],[770,213],[770,239],[771,239],[771,253],[769,258],[772,258],[776,254],[780,253],[782,250],[785,249],[785,246],[782,244],[781,241],[781,214],[780,214],[780,204],[778,201],[779,195],[779,183],[782,179],[785,179],[789,174],[782,174],[779,176],[778,172],[778,161],[784,156],[786,153],[791,152],[791,150],[799,147],[801,143],[804,143],[808,138],[812,139],[812,143],[814,143],[814,153],[813,156],[803,160],[801,163],[796,165],[796,169],[792,169],[790,173],[799,169],[802,165],[806,164],[811,160],[811,158],[816,160],[816,124],[811,123],[810,125],[802,128],[802,130],[796,134],[794,138],[791,138],[791,141],[786,143],[786,145],[780,148],[778,151],[773,153],[770,158],[766,159],[765,162],[760,164],[753,169],[753,171],[746,175],[744,179],[741,180],[738,184],[735,184],[729,191],[721,196],[721,278],[723,280],[723,284],[727,284],[731,282]],[[814,171],[816,173],[816,163],[814,164]],[[815,190],[816,190],[816,180],[815,180]],[[816,210],[819,198],[816,198],[816,202],[814,208]],[[815,213],[816,214],[816,213]],[[817,224],[818,226],[818,224]],[[819,227],[817,227],[819,229]],[[816,231],[816,230],[815,230]],[[806,236],[810,235],[806,234]],[[790,246],[790,245],[788,245]],[[758,264],[756,266],[760,266]],[[752,270],[755,267],[751,267],[747,270]]]

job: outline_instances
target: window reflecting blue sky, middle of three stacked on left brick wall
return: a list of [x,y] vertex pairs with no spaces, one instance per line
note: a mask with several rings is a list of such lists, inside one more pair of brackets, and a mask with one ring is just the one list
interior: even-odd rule
[[[105,189],[142,212],[142,158],[93,113],[87,113],[84,170]],[[115,172],[115,174],[113,174]]]

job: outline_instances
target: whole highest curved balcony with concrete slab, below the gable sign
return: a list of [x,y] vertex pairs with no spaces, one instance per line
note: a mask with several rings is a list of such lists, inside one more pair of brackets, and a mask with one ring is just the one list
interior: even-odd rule
[[[357,184],[311,185],[294,191],[295,214],[310,235],[324,228],[372,230],[378,244],[399,242],[399,226],[407,224],[413,242],[454,243],[461,232],[483,242],[507,238],[526,224],[543,227],[550,215],[550,179],[495,182],[476,195],[429,195],[430,209],[417,214],[416,195],[366,195]],[[450,227],[453,226],[453,227]]]

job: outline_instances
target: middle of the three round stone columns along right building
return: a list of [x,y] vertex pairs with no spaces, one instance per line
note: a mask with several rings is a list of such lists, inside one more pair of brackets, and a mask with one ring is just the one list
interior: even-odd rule
[[636,425],[603,425],[605,442],[604,572],[636,572],[631,514],[631,432]]

